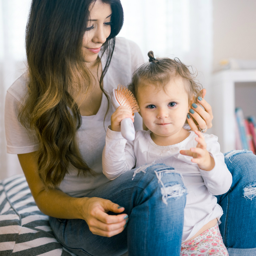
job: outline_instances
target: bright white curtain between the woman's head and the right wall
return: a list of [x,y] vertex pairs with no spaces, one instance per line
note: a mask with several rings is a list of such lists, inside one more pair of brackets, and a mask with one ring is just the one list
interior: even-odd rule
[[124,26],[118,36],[135,41],[146,61],[148,51],[152,50],[158,57],[178,57],[186,65],[192,65],[197,69],[199,81],[207,89],[207,95],[210,95],[212,0],[121,2]]

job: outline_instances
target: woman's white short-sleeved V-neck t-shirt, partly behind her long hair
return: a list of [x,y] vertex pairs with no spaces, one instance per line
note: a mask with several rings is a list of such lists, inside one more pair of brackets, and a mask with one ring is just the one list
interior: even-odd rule
[[[102,56],[102,67],[106,59]],[[132,73],[144,62],[141,51],[137,44],[122,37],[116,38],[115,50],[103,78],[103,87],[110,95],[113,88],[118,84],[128,85],[131,82]],[[38,140],[33,132],[27,133],[26,129],[17,119],[17,107],[22,97],[27,92],[27,73],[20,76],[7,90],[5,98],[5,133],[7,141],[7,153],[25,154],[38,150]],[[93,116],[82,116],[82,125],[77,131],[79,150],[88,166],[98,173],[96,177],[77,177],[77,169],[70,165],[70,174],[60,185],[60,189],[70,196],[84,196],[91,190],[105,184],[108,179],[102,173],[102,151],[105,145],[107,126],[115,109],[110,103],[110,110],[104,117],[107,110],[107,98],[102,94],[102,101],[98,113]],[[105,128],[104,128],[105,126]],[[142,122],[139,115],[135,117],[135,128],[142,129]]]

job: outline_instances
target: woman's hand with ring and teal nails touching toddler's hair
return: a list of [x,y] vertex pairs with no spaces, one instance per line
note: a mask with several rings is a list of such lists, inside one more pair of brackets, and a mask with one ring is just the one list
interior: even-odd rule
[[[206,89],[202,89],[202,98],[198,97],[198,102],[204,107],[200,107],[198,104],[192,104],[192,108],[189,110],[189,116],[192,116],[194,120],[197,122],[198,126],[201,129],[204,129],[207,126],[207,129],[210,129],[213,120],[213,112],[212,107],[207,101],[204,99],[206,94]],[[194,122],[193,118],[188,118],[187,121],[192,131],[198,131],[197,124]]]

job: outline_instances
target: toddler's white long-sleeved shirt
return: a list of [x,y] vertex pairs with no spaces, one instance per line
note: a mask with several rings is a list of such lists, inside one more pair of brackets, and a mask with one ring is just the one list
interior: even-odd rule
[[191,162],[191,157],[180,154],[180,150],[196,147],[195,132],[190,131],[190,135],[185,140],[170,146],[156,145],[150,133],[151,131],[137,131],[135,140],[127,141],[121,132],[108,128],[102,156],[103,173],[108,179],[113,180],[134,166],[153,162],[164,163],[173,167],[175,172],[181,173],[188,191],[182,237],[182,241],[185,242],[209,221],[220,219],[223,211],[214,195],[221,195],[229,190],[232,175],[220,152],[217,136],[203,134],[207,150],[215,161],[214,168],[205,171]]

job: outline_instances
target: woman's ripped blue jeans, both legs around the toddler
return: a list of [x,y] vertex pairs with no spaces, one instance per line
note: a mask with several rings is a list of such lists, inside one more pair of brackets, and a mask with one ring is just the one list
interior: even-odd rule
[[[217,196],[224,212],[220,225],[223,241],[230,256],[256,255],[256,156],[249,151],[226,155],[233,183],[226,194]],[[129,222],[122,233],[110,238],[98,236],[91,233],[84,220],[50,217],[58,241],[79,256],[122,255],[127,249],[131,256],[179,256],[186,189],[181,175],[171,170],[164,164],[151,165],[146,173],[137,173],[133,180],[134,170],[131,170],[86,195],[109,199],[125,207]],[[156,174],[161,173],[162,183],[159,183]],[[179,191],[166,198],[163,186],[178,186]]]

